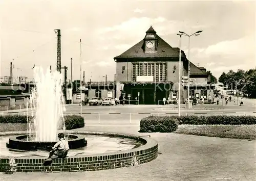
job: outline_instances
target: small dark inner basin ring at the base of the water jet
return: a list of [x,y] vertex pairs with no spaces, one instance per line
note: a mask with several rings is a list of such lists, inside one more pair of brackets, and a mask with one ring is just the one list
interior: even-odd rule
[[[87,145],[87,140],[84,136],[81,135],[65,135],[68,138],[69,148],[76,149],[84,147]],[[29,135],[19,135],[9,138],[9,142],[6,143],[6,146],[11,149],[19,150],[51,150],[52,147],[56,144],[57,141],[33,141],[28,140]],[[33,135],[32,135],[33,138]]]

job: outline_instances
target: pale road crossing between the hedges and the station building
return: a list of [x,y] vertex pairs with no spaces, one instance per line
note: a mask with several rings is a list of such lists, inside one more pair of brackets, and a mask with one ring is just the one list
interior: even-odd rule
[[[181,106],[181,115],[253,115],[256,111],[253,106],[239,107],[237,105],[204,105],[195,106],[193,109],[187,110]],[[29,111],[29,115],[34,110]],[[5,114],[23,114],[26,110],[16,110],[2,112]],[[66,105],[66,115],[79,115],[80,106]],[[178,115],[178,108],[175,105],[117,105],[117,106],[82,106],[82,117],[86,120],[86,124],[139,124],[140,119],[150,115]]]

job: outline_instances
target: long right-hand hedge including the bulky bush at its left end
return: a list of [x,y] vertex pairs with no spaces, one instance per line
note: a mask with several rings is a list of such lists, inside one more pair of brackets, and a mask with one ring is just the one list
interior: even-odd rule
[[149,116],[140,120],[139,132],[174,132],[178,128],[178,124],[256,124],[255,116]]

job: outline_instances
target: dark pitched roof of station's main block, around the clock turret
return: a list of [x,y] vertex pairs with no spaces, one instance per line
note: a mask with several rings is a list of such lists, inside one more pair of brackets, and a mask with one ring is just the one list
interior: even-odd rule
[[[145,53],[145,51],[143,50],[144,40],[141,40],[131,48],[124,51],[124,53],[122,53],[121,55],[115,57],[114,59],[116,58],[179,57],[179,48],[173,48],[158,35],[156,35],[156,37],[158,39],[156,53],[154,54]],[[182,56],[184,56],[184,53],[182,54]]]

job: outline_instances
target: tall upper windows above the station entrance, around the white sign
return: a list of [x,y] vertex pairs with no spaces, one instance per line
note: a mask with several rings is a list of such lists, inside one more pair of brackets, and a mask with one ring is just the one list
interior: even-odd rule
[[133,82],[136,76],[154,76],[154,82],[166,81],[166,63],[134,63]]

